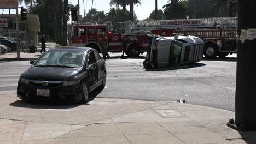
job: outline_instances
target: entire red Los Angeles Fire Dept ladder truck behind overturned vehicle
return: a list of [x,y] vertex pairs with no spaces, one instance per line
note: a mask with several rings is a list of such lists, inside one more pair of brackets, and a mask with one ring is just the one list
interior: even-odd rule
[[[203,39],[205,41],[205,46],[208,46],[208,49],[205,47],[206,57],[216,57],[217,55],[226,56],[229,53],[236,52],[236,45],[234,43],[234,29],[236,24],[236,17],[134,22],[127,21],[123,22],[122,28],[125,29],[125,34],[122,34],[112,33],[109,31],[108,25],[90,25],[87,23],[84,25],[74,25],[72,27],[69,45],[92,47],[98,52],[101,52],[101,46],[99,43],[102,39],[102,33],[106,33],[108,37],[108,51],[121,52],[123,49],[121,37],[124,36],[128,39],[126,55],[136,57],[148,49],[149,41],[147,39],[147,34],[161,35],[165,32],[166,36],[171,36],[175,31],[185,35],[195,35]],[[212,31],[213,28],[226,29],[226,27],[232,27],[232,33],[230,33],[230,31],[220,32],[218,33],[218,37],[217,35],[213,37],[213,34],[208,34],[209,37],[201,37],[203,35],[199,35],[199,31],[207,28],[211,28],[209,31]],[[179,31],[179,29],[182,28],[188,28],[188,30],[193,28],[194,33]],[[216,32],[210,33],[216,34]],[[223,37],[224,33],[226,35],[225,37]],[[228,46],[228,48],[224,48],[225,46]]]

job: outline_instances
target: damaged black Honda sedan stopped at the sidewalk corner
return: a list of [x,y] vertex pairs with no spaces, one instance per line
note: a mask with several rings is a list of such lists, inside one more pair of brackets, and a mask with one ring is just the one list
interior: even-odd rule
[[106,63],[95,49],[61,47],[46,51],[21,74],[17,96],[75,99],[88,102],[88,94],[106,84]]

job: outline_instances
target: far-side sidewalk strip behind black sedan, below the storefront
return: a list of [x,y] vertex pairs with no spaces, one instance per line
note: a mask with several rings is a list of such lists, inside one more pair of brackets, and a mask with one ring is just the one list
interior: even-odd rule
[[[54,47],[55,43],[46,43],[46,50]],[[17,58],[17,52],[4,52],[0,54],[0,61],[29,61],[36,60],[40,55],[41,45],[37,45],[37,52],[30,53],[26,49],[20,50],[20,58]]]

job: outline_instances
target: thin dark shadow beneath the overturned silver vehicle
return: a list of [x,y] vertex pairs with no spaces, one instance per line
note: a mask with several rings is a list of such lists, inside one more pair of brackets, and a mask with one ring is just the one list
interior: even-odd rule
[[155,69],[145,69],[146,71],[167,71],[167,70],[177,70],[177,69],[190,69],[190,68],[197,68],[197,67],[203,67],[206,64],[203,63],[189,63],[184,65],[179,65],[175,67],[164,67],[164,68],[155,68]]

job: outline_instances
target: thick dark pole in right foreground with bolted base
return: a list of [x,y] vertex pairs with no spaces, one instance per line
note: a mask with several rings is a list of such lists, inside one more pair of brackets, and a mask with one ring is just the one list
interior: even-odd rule
[[231,121],[232,119],[228,123],[228,127],[238,131],[256,130],[256,91],[253,84],[255,83],[256,19],[251,16],[255,5],[256,1],[238,1],[237,35],[240,40],[237,40],[235,123]]

